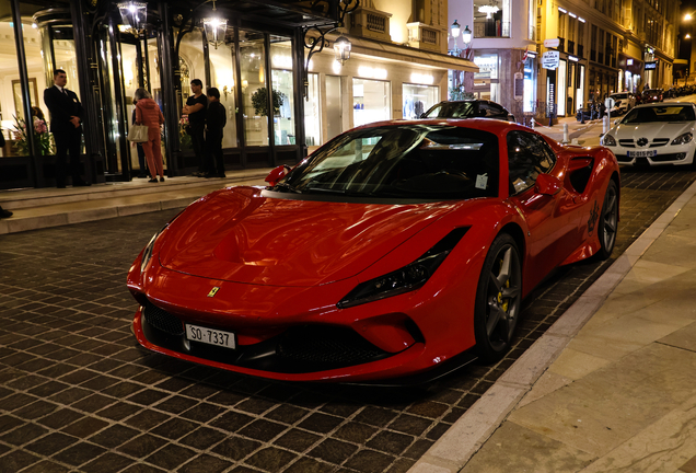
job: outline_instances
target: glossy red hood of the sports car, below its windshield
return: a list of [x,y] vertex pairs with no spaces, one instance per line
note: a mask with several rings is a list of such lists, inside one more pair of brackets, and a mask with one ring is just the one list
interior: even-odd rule
[[456,206],[267,198],[234,187],[175,219],[159,258],[169,269],[210,279],[316,286],[357,275]]

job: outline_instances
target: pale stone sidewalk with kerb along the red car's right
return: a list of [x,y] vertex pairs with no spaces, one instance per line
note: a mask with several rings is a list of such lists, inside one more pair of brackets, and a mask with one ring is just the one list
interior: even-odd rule
[[410,473],[696,473],[696,183]]

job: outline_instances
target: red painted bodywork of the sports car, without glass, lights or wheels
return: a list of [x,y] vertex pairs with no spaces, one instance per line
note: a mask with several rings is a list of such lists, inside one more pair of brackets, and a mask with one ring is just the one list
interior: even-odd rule
[[[619,178],[608,149],[566,147],[544,138],[557,157],[555,166],[535,186],[510,196],[504,137],[511,130],[535,131],[486,119],[397,124],[415,123],[496,134],[498,197],[317,201],[230,187],[192,204],[155,240],[144,270],[141,253],[128,274],[128,287],[141,304],[147,299],[184,323],[232,332],[241,348],[293,327],[330,326],[350,328],[391,356],[311,372],[255,369],[153,343],[143,332],[141,310],[134,319],[138,342],[172,357],[279,380],[361,382],[418,374],[475,346],[477,284],[499,232],[520,239],[523,296],[553,268],[599,251],[593,209],[598,203],[601,208],[610,180],[618,186]],[[587,186],[577,192],[571,176],[585,168],[591,168]],[[358,284],[408,265],[461,227],[468,231],[419,289],[337,308]],[[209,297],[213,287],[219,290]]]

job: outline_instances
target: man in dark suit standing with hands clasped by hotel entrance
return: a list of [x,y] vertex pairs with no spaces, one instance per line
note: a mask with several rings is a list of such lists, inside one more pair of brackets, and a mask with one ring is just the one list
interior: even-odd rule
[[80,151],[82,149],[82,104],[78,95],[66,89],[68,76],[62,69],[54,72],[54,86],[44,91],[44,103],[50,112],[50,131],[56,140],[56,185],[66,187],[66,158],[70,152],[72,186],[89,186],[80,177]]

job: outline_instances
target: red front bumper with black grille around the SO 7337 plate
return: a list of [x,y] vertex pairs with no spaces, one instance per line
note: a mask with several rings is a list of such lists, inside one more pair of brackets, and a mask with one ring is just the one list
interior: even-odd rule
[[[134,333],[143,347],[163,355],[276,380],[393,384],[406,377],[437,377],[445,361],[451,369],[475,359],[456,357],[475,345],[475,285],[463,289],[436,276],[430,289],[337,309],[335,301],[355,280],[254,287],[172,272],[153,258],[147,290],[137,282],[137,269],[129,275],[140,302]],[[206,297],[211,286],[220,287],[213,298]],[[236,348],[189,341],[185,324],[231,332]],[[450,361],[455,357],[460,362]]]

